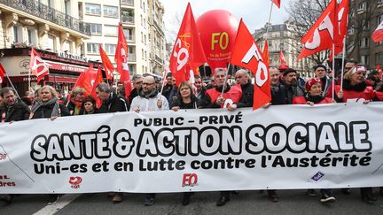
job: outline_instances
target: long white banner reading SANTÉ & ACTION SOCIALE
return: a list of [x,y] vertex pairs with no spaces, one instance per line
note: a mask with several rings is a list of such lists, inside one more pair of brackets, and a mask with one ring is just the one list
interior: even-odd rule
[[0,126],[0,193],[383,186],[383,104],[120,112]]

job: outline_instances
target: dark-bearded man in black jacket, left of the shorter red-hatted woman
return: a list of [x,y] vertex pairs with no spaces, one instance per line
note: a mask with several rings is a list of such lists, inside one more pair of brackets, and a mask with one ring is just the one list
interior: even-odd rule
[[304,88],[298,85],[296,71],[292,68],[288,68],[283,73],[283,83],[287,90],[287,103],[293,104],[293,98],[295,96],[305,96]]

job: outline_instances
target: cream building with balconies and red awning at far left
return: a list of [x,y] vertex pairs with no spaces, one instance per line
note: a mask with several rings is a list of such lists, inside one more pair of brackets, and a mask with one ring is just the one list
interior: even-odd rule
[[76,0],[0,0],[0,62],[20,92],[28,89],[31,46],[51,65],[43,82],[32,79],[35,88],[48,83],[67,91],[92,63],[82,52],[90,26],[78,14]]

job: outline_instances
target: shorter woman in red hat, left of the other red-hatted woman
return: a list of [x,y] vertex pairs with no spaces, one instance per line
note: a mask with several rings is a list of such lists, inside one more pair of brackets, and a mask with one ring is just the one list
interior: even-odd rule
[[318,78],[311,78],[306,82],[307,96],[296,96],[293,98],[293,104],[330,104],[332,99],[323,96],[323,82]]

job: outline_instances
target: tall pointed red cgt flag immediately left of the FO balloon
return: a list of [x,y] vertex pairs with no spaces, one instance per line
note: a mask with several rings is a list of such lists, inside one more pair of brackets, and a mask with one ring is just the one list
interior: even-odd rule
[[189,3],[170,55],[169,69],[176,78],[176,84],[189,81],[191,70],[195,73],[195,68],[206,61],[205,52],[191,11],[191,4]]

